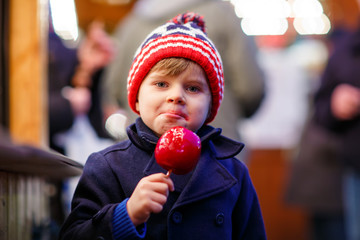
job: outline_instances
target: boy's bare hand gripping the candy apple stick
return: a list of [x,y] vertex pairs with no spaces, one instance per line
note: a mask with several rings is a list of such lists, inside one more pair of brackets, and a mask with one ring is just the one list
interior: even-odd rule
[[146,222],[151,213],[163,209],[169,190],[174,191],[173,181],[163,173],[144,177],[137,184],[126,208],[135,226]]

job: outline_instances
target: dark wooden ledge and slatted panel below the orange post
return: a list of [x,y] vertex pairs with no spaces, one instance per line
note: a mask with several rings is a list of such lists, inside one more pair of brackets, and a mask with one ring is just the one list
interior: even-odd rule
[[30,145],[0,140],[0,239],[50,239],[48,181],[78,176],[82,165]]

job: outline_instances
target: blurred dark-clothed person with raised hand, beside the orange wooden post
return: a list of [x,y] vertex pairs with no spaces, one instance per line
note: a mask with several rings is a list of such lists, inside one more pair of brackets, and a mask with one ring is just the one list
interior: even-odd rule
[[66,46],[50,29],[49,140],[52,149],[69,155],[57,134],[70,130],[80,116],[87,116],[97,137],[109,138],[104,127],[99,86],[103,67],[113,54],[114,45],[99,22],[90,25],[79,48]]

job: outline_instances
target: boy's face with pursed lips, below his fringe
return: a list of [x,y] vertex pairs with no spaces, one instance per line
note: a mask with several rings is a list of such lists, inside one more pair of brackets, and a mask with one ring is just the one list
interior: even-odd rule
[[158,136],[171,127],[196,132],[208,117],[211,93],[204,70],[196,63],[178,76],[152,71],[140,85],[136,110]]

